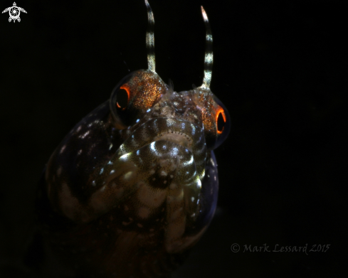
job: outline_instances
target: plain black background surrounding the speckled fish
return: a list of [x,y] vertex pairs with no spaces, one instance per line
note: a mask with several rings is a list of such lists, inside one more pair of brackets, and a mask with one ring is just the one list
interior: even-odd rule
[[[53,150],[129,70],[147,68],[142,0],[16,3],[28,12],[20,23],[0,14],[1,277],[19,277]],[[150,0],[157,73],[176,91],[202,82],[204,6],[211,90],[231,114],[216,150],[216,217],[175,277],[347,277],[348,24],[338,3]],[[264,244],[271,252],[244,252]],[[310,252],[318,245],[330,246]]]

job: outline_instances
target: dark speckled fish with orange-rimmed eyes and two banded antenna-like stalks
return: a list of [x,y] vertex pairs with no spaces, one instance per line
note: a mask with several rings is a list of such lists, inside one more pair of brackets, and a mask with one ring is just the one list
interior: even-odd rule
[[124,77],[110,100],[76,124],[41,179],[46,277],[168,277],[213,218],[213,149],[230,119],[209,89],[209,21],[201,7],[203,84],[175,92],[155,71],[154,17],[145,4],[148,70]]

